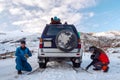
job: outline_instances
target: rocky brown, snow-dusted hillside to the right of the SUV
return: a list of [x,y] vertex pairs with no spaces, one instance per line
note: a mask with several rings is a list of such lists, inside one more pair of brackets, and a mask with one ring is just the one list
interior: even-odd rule
[[120,47],[120,31],[101,33],[81,33],[85,47],[95,45],[98,47]]

